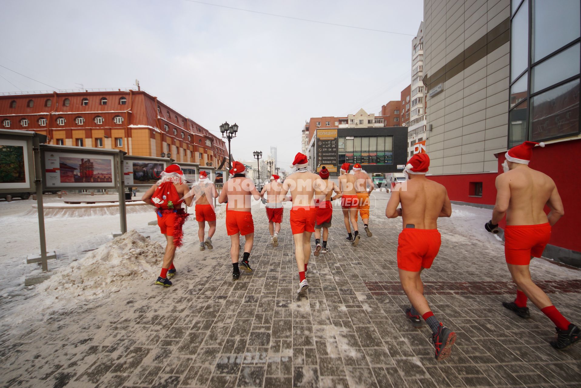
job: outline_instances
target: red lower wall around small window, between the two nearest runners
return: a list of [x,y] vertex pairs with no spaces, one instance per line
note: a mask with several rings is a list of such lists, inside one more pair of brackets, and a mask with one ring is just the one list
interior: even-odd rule
[[[496,201],[494,179],[497,175],[497,173],[428,175],[428,179],[446,186],[452,201],[493,205]],[[482,197],[469,196],[470,182],[482,182]]]

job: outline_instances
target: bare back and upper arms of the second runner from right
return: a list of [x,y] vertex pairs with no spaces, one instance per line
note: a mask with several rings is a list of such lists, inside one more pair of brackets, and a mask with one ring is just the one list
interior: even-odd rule
[[413,224],[417,229],[437,229],[437,218],[444,206],[450,206],[446,188],[423,176],[397,185],[393,195],[399,195],[404,227]]

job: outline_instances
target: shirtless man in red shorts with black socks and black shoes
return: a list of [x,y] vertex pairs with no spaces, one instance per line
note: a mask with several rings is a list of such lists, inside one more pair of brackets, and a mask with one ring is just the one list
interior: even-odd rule
[[251,196],[255,200],[260,199],[260,193],[256,190],[252,179],[246,178],[246,168],[239,161],[232,163],[230,174],[234,175],[232,179],[224,184],[224,188],[218,196],[219,203],[228,203],[226,205],[226,231],[230,236],[230,257],[232,258],[232,280],[240,278],[238,268],[238,256],[240,255],[240,236],[245,236],[244,254],[240,267],[245,272],[252,272],[248,258],[252,252],[252,243],[254,242],[254,221],[252,213]]

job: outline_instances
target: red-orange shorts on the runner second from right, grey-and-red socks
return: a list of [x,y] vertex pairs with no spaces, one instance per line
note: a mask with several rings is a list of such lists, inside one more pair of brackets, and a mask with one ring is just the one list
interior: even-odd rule
[[397,239],[397,268],[418,272],[432,267],[441,243],[437,229],[404,228]]

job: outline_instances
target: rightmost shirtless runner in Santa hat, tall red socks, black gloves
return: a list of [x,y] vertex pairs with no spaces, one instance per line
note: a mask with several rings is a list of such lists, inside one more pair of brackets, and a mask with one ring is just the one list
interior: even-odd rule
[[[565,349],[580,337],[578,326],[569,322],[530,278],[529,264],[533,257],[541,257],[551,238],[551,226],[564,214],[561,197],[553,179],[528,166],[533,148],[544,143],[524,142],[505,154],[504,174],[496,177],[496,205],[492,220],[485,228],[497,232],[498,222],[506,214],[504,256],[512,281],[517,285],[517,299],[503,302],[503,306],[521,318],[529,318],[527,299],[535,304],[556,326],[557,337],[551,341],[555,349]],[[544,206],[550,209],[544,212]]]

